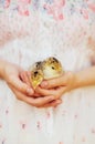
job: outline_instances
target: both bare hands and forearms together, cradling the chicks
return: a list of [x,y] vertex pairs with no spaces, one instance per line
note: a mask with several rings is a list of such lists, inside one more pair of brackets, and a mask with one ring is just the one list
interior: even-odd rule
[[7,82],[18,100],[36,107],[50,107],[61,104],[62,95],[71,90],[95,85],[95,66],[43,81],[34,91],[29,81],[30,72],[0,60],[0,78]]

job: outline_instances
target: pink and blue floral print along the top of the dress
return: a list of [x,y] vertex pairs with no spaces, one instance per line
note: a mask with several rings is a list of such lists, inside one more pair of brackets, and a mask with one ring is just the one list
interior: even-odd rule
[[[49,17],[51,17],[51,19],[54,19],[56,21],[64,20],[65,14],[63,11],[64,8],[66,8],[67,0],[43,0],[42,4],[39,4],[40,1],[41,0],[17,0],[14,4],[12,0],[1,0],[0,4],[3,9],[10,9],[11,7],[11,10],[18,11],[19,14],[25,17],[32,14],[32,10],[43,9],[42,11],[46,12]],[[75,8],[75,4],[78,4],[78,8]],[[95,12],[95,2],[92,2],[89,0],[70,0],[70,8],[67,9],[70,9],[71,14],[73,14],[74,12],[80,12],[84,17],[84,19],[88,19],[89,12]]]

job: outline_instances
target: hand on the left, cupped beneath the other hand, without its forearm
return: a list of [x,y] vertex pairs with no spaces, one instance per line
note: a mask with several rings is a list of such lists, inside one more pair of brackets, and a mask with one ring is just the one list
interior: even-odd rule
[[3,65],[2,78],[6,80],[18,100],[36,107],[41,107],[42,105],[45,105],[46,103],[53,101],[53,96],[38,99],[34,97],[34,91],[28,84],[28,79],[25,80],[27,83],[21,80],[20,73],[23,72],[21,68],[9,62],[3,62]]

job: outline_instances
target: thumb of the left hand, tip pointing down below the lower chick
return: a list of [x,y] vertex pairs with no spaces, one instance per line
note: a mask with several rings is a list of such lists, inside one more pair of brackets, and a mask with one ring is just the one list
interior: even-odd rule
[[27,93],[29,95],[32,95],[33,89],[30,88],[28,84],[23,83],[18,76],[11,76],[10,82],[8,82],[12,86],[14,86],[17,90],[21,91],[22,93]]

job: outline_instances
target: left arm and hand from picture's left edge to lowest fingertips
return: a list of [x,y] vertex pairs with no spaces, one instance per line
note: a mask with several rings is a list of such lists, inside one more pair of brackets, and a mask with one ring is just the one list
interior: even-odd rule
[[[21,73],[24,73],[25,75],[24,81],[21,78],[21,75],[23,75]],[[53,95],[40,96],[34,93],[29,84],[27,74],[28,73],[18,65],[0,60],[0,78],[7,82],[18,100],[36,107],[55,106],[60,103],[59,100],[57,102],[54,102]],[[38,97],[35,97],[36,95]]]

